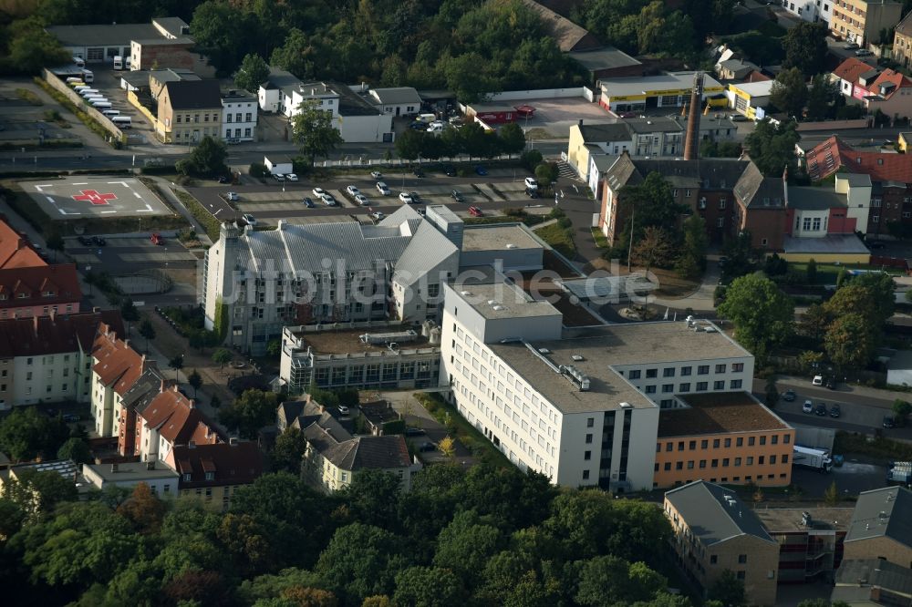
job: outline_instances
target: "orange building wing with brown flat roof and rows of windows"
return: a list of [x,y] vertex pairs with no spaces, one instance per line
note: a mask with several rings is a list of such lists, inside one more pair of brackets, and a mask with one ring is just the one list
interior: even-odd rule
[[682,394],[676,400],[679,406],[663,408],[658,417],[654,488],[700,478],[790,484],[794,429],[749,392]]

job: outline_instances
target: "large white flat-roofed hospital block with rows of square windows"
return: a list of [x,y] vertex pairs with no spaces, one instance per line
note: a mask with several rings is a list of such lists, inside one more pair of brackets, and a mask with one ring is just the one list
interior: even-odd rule
[[661,407],[750,386],[753,357],[711,324],[563,329],[512,283],[445,287],[440,383],[523,470],[567,487],[650,489]]

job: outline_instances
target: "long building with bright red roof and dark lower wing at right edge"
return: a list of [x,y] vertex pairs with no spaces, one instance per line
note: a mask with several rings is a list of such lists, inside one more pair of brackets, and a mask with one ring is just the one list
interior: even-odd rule
[[868,176],[870,211],[859,231],[902,234],[912,229],[912,156],[857,150],[834,135],[806,150],[803,163],[812,180],[836,172]]

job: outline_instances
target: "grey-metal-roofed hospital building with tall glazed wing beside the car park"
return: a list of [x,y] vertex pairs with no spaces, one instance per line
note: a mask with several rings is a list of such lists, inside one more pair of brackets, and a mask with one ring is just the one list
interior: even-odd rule
[[206,252],[206,326],[221,316],[226,343],[260,355],[286,324],[437,320],[440,285],[456,275],[459,248],[446,232],[451,223],[438,227],[432,211],[422,217],[403,206],[377,225],[223,224]]

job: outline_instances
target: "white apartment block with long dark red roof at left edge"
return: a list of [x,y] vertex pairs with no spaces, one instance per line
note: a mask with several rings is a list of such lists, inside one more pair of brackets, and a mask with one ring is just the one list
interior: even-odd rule
[[121,329],[117,310],[0,319],[0,409],[90,398],[99,324]]

